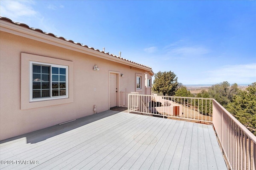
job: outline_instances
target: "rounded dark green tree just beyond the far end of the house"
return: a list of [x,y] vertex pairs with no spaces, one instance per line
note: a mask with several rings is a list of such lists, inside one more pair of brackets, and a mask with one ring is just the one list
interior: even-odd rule
[[178,77],[174,72],[161,72],[155,74],[152,90],[155,92],[162,92],[163,95],[174,96],[178,86]]

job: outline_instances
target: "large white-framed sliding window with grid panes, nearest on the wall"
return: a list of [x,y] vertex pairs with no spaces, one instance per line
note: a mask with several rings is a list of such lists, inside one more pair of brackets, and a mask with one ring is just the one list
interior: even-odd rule
[[68,98],[68,66],[30,61],[30,102]]

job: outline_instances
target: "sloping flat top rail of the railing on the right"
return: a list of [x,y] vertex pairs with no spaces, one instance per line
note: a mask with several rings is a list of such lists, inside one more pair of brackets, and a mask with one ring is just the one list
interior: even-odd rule
[[236,125],[238,125],[240,127],[240,129],[242,129],[244,131],[244,133],[246,133],[246,135],[248,137],[250,137],[250,139],[256,143],[256,136],[253,135],[244,125],[242,125],[242,123],[240,123],[240,121],[238,121],[231,113],[229,113],[223,106],[221,106],[215,99],[213,99],[213,102],[215,102],[216,104],[218,104],[218,106],[224,110],[226,112],[226,114],[232,119],[232,121],[234,121],[236,123]]

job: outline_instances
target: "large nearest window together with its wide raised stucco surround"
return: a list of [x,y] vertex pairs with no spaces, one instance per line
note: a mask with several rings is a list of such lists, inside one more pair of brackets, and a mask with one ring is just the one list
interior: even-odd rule
[[[40,55],[21,53],[20,109],[33,109],[38,107],[56,106],[74,102],[74,63],[73,61],[54,58],[54,56],[54,54],[52,57],[45,57]],[[34,76],[36,76],[34,79],[33,64],[35,65],[34,67],[36,67],[34,68]],[[61,86],[58,89],[53,89],[56,91],[59,90],[58,92],[60,96],[52,96],[52,75],[60,76],[59,81],[53,82],[64,83],[65,81],[62,81],[62,78],[64,78],[65,74],[62,73],[62,69],[58,69],[60,71],[59,74],[52,74],[52,67],[66,68],[66,89],[63,88],[64,84],[60,84]],[[34,90],[33,80],[35,85]],[[64,92],[64,90],[66,90],[66,92]],[[33,91],[38,91],[34,92],[34,98]],[[36,94],[40,94],[40,96],[37,97]]]

